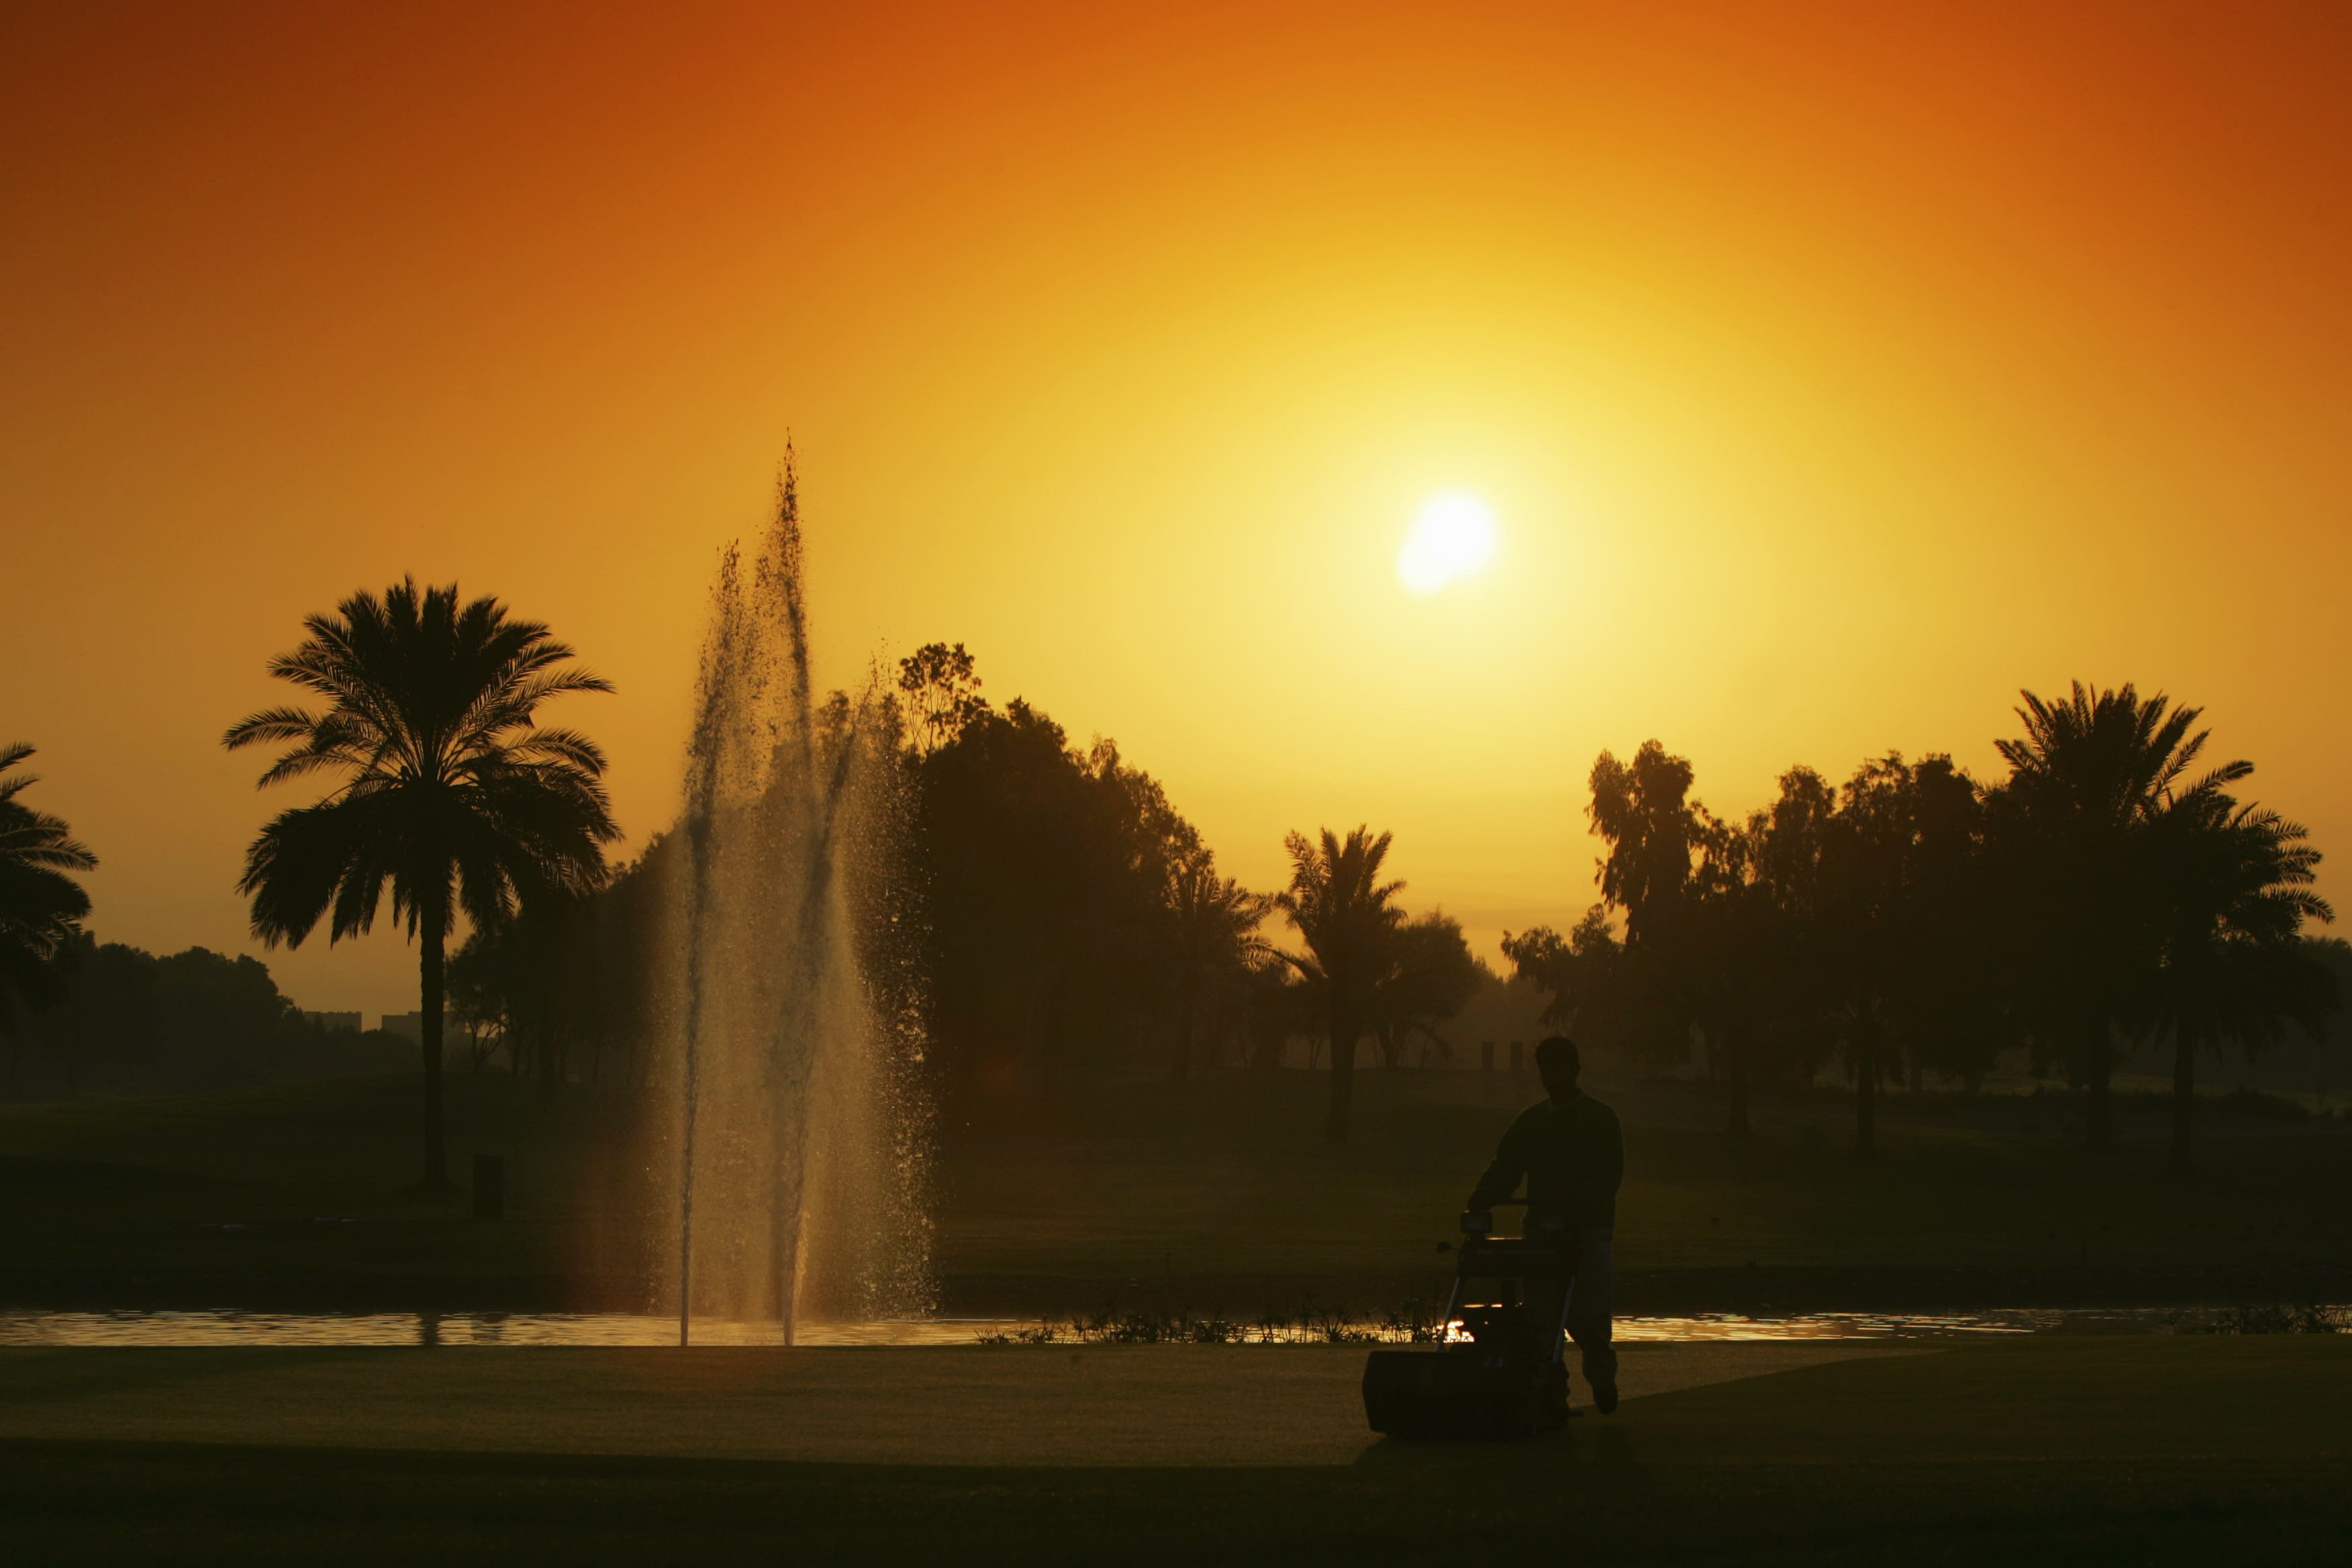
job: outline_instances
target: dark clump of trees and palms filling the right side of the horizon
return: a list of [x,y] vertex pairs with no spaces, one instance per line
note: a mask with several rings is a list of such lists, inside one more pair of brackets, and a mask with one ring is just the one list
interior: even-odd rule
[[2086,1091],[2103,1145],[2117,1060],[2161,1041],[2185,1171],[2199,1056],[2317,1037],[2336,1009],[2328,954],[2303,936],[2333,917],[2319,851],[2237,797],[2251,762],[2194,771],[2194,708],[2077,684],[2023,693],[2018,717],[1990,785],[1889,752],[1842,785],[1790,769],[1743,823],[1693,799],[1691,764],[1656,741],[1602,752],[1602,903],[1566,936],[1505,936],[1505,954],[1588,1044],[1651,1065],[1703,1051],[1731,1133],[1752,1084],[1842,1065],[1865,1154],[1889,1074],[1973,1091],[2011,1048]]

